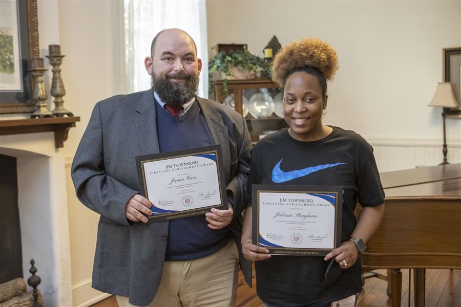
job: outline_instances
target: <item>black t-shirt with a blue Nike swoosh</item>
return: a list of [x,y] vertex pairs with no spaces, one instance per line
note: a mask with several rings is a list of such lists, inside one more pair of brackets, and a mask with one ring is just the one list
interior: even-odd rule
[[[372,147],[358,134],[332,126],[324,139],[301,142],[288,128],[264,137],[252,150],[245,199],[253,184],[343,186],[341,242],[357,225],[354,209],[384,203],[384,191]],[[362,289],[360,259],[329,286],[323,281],[328,261],[322,256],[277,256],[256,262],[257,293],[276,306],[316,306]]]

